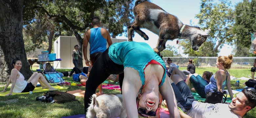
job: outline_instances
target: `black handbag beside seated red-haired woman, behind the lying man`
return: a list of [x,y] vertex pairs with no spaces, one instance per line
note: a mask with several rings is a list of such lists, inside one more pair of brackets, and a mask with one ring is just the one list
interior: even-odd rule
[[[226,96],[225,96],[226,95]],[[223,96],[224,96],[224,102],[223,102]],[[211,104],[216,104],[216,103],[225,103],[227,100],[227,94],[224,92],[219,92],[218,89],[216,90],[211,90],[206,93],[206,99],[204,103],[211,103]]]

